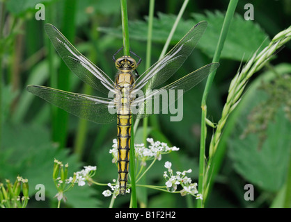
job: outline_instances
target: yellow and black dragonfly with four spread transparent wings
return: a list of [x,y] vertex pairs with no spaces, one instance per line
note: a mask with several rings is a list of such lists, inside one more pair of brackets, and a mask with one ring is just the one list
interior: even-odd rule
[[[131,55],[139,58],[138,62],[132,56],[121,56],[116,59],[117,53],[121,50],[119,49],[113,55],[113,61],[116,69],[118,69],[116,79],[113,82],[102,69],[79,53],[55,26],[45,24],[45,31],[63,62],[84,83],[106,94],[107,97],[65,92],[39,85],[28,85],[26,89],[77,117],[95,123],[110,123],[117,120],[119,194],[125,194],[128,186],[132,117],[141,119],[154,114],[154,112],[149,112],[151,110],[149,107],[153,106],[151,101],[155,96],[171,90],[180,89],[182,93],[187,92],[219,67],[218,62],[210,63],[169,85],[157,89],[183,65],[194,50],[206,27],[207,22],[205,21],[196,24],[171,51],[140,76],[136,68],[141,63],[141,58],[130,51]],[[174,103],[177,99],[173,99],[171,103]],[[136,107],[139,108],[137,111],[134,109]],[[162,105],[157,109],[162,110]]]

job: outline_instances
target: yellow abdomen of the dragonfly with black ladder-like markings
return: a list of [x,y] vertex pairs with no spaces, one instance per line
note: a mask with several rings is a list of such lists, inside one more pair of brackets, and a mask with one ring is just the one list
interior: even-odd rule
[[117,115],[117,145],[118,145],[118,174],[120,194],[125,194],[130,151],[130,131],[132,130],[132,115]]

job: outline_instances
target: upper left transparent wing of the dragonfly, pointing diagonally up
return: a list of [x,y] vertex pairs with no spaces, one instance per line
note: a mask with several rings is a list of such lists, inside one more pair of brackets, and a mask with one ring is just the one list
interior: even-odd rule
[[65,64],[84,83],[87,83],[104,94],[108,94],[109,90],[114,90],[114,83],[111,78],[79,53],[55,26],[45,24],[45,31]]

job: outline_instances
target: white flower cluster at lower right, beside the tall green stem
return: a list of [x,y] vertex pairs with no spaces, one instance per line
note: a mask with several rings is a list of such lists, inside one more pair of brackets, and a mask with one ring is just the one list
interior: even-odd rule
[[171,169],[172,163],[166,162],[164,167],[168,169],[168,171],[164,171],[164,178],[166,179],[166,187],[168,191],[174,192],[177,189],[177,185],[181,185],[183,189],[180,191],[180,194],[182,196],[185,196],[187,194],[191,194],[193,196],[196,196],[196,199],[200,198],[202,199],[202,196],[198,194],[197,190],[197,183],[191,183],[191,178],[186,176],[186,173],[191,173],[192,170],[189,169],[187,171],[177,171],[176,175],[173,175],[173,170]]

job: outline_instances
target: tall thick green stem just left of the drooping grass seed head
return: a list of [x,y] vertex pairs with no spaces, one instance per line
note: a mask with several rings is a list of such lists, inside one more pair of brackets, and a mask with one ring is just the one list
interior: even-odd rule
[[[237,7],[238,0],[230,0],[228,4],[228,9],[226,11],[226,17],[223,21],[221,33],[219,35],[219,42],[217,44],[217,49],[214,53],[214,58],[212,62],[219,62],[219,58],[221,56],[221,51],[223,49],[223,44],[226,40],[226,36],[228,34],[228,29],[230,26],[230,22],[233,19],[233,15],[235,13],[235,8]],[[203,98],[201,102],[201,137],[200,137],[200,155],[199,155],[199,178],[198,178],[198,192],[199,194],[204,194],[204,176],[205,176],[205,140],[206,140],[206,117],[207,117],[207,106],[206,106],[206,100],[208,93],[210,92],[210,88],[212,85],[212,82],[214,80],[214,76],[216,74],[216,71],[213,71],[210,76],[207,78],[207,83],[205,85],[205,90],[203,92]],[[197,207],[201,208],[204,207],[203,205],[204,200],[198,199],[197,201]]]

